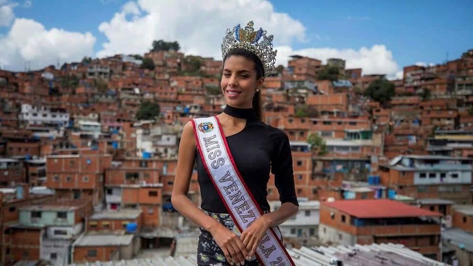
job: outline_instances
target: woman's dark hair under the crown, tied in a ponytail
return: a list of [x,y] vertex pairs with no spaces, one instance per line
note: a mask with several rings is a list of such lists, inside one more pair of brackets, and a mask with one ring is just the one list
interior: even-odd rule
[[[263,64],[261,63],[261,60],[252,52],[242,49],[242,48],[235,48],[231,49],[228,54],[225,56],[223,59],[223,62],[230,57],[230,56],[243,56],[246,59],[250,59],[251,61],[255,62],[255,70],[256,70],[256,80],[260,79],[261,77],[264,77],[264,67]],[[259,92],[255,92],[255,96],[253,97],[253,111],[256,114],[256,117],[264,122],[264,114],[263,114],[263,108],[262,108],[262,103],[261,103],[261,90]]]

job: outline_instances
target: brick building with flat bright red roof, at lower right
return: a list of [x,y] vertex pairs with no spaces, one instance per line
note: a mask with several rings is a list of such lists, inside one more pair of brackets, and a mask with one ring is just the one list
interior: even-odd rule
[[432,259],[440,259],[440,213],[389,199],[324,202],[319,238],[344,245],[400,243]]

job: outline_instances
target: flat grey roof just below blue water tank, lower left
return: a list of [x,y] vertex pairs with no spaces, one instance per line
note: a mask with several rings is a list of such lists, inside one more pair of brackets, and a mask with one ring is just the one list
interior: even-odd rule
[[84,234],[73,243],[74,247],[88,246],[121,246],[129,245],[133,240],[133,234],[115,235],[115,234]]

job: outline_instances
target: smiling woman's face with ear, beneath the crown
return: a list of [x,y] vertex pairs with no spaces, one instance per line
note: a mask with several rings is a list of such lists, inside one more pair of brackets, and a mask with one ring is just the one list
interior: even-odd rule
[[223,65],[220,86],[227,104],[238,108],[252,108],[256,88],[264,78],[256,79],[255,63],[243,56],[230,56]]

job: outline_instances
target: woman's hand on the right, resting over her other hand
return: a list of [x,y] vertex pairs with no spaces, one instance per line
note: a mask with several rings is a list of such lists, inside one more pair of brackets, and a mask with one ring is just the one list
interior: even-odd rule
[[262,215],[241,234],[240,239],[243,245],[247,250],[250,250],[247,260],[250,260],[255,255],[256,247],[261,238],[263,238],[264,233],[268,230],[269,224],[268,219]]

